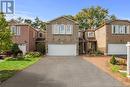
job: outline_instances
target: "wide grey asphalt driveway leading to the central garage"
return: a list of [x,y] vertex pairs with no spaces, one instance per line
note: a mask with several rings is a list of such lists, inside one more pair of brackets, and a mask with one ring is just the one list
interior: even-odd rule
[[123,87],[80,57],[45,57],[1,87]]

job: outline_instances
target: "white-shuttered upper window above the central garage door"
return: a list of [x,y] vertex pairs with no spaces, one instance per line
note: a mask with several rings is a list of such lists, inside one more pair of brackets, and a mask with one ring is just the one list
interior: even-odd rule
[[52,25],[52,33],[53,34],[72,34],[73,27],[72,25],[64,25],[64,24],[54,24]]

